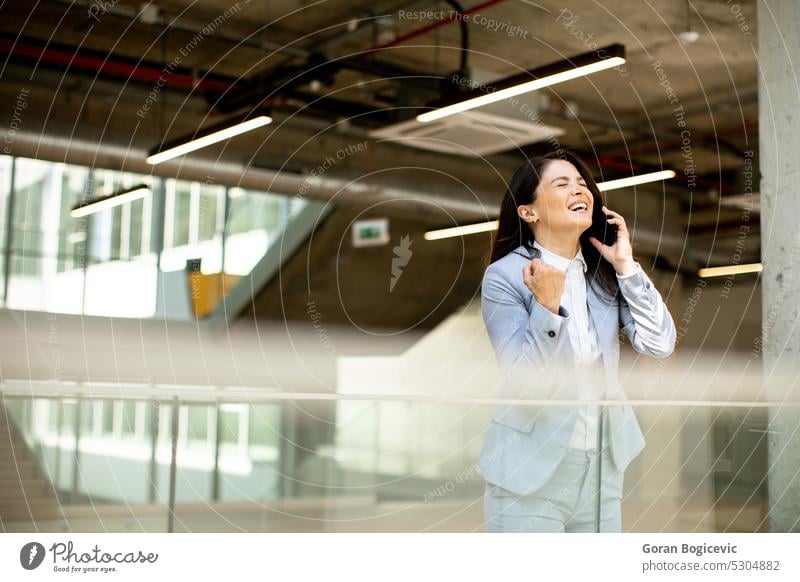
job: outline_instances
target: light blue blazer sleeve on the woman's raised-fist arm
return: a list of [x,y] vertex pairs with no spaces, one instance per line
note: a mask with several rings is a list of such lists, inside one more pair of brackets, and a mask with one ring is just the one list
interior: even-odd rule
[[[521,268],[519,276],[522,278]],[[554,364],[567,342],[569,313],[559,307],[555,314],[534,297],[530,306],[529,313],[517,288],[496,264],[486,269],[481,284],[481,312],[500,367],[510,376],[528,379],[526,386],[535,380],[532,390],[526,391],[534,392],[531,396],[545,397],[553,386],[542,372],[557,368]]]

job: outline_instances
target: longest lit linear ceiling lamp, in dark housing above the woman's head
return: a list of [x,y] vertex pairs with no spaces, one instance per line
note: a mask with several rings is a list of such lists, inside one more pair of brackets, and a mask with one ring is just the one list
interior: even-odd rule
[[[476,107],[483,107],[490,103],[496,103],[503,99],[522,95],[523,93],[530,93],[544,87],[549,87],[557,83],[564,83],[571,81],[578,77],[585,77],[592,73],[618,67],[625,63],[625,48],[622,45],[616,44],[583,53],[572,59],[565,59],[557,63],[546,65],[538,69],[532,69],[515,75],[505,80],[499,81],[496,86],[498,88],[491,92],[486,92],[486,89],[475,89],[467,93],[467,95],[475,95],[474,97],[465,96],[464,100],[451,105],[445,105],[433,111],[426,111],[417,115],[417,121],[428,122],[436,119],[447,117],[455,113],[462,113],[475,109]],[[607,55],[600,57],[600,55]],[[611,56],[614,55],[614,56]],[[585,63],[585,64],[584,64]],[[538,79],[529,80],[531,76],[539,77]],[[506,85],[506,86],[504,86]]]

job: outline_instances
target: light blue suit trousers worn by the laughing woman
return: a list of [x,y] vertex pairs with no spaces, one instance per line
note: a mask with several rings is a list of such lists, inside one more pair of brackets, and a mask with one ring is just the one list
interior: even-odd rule
[[[531,495],[517,495],[491,483],[484,492],[486,531],[593,532],[597,506],[597,451],[568,449],[553,476]],[[600,531],[622,529],[623,472],[608,446],[602,453]]]

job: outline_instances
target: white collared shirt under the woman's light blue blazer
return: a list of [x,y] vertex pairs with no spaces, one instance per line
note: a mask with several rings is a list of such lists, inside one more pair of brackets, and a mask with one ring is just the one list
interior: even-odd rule
[[[572,374],[572,378],[579,384],[578,399],[601,400],[603,398],[603,384],[601,381],[597,381],[598,370],[596,366],[602,354],[597,338],[597,330],[589,318],[589,308],[586,304],[586,279],[584,273],[587,270],[587,265],[583,258],[583,252],[578,249],[578,253],[573,259],[567,259],[544,248],[538,242],[534,242],[533,245],[541,252],[542,262],[566,273],[561,305],[569,312],[567,337],[575,352],[575,372]],[[597,405],[586,405],[578,408],[578,419],[570,437],[570,448],[580,450],[597,449],[599,413],[600,407]]]

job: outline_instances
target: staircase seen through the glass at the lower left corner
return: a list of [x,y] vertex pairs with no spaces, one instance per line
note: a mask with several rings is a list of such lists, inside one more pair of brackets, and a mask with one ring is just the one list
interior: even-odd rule
[[0,531],[13,522],[60,517],[50,480],[13,419],[0,405]]

